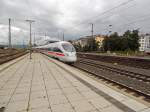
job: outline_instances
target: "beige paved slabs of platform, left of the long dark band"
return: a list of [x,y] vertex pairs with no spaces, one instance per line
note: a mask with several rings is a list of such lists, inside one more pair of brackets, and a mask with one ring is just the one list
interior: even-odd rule
[[1,74],[0,106],[5,107],[4,112],[124,112],[39,54]]

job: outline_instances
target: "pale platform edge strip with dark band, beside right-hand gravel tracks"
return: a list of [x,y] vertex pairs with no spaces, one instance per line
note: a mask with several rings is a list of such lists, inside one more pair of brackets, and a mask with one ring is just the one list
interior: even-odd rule
[[[50,58],[51,59],[51,58]],[[82,73],[74,70],[72,67],[67,66],[65,64],[62,64],[61,62],[58,62],[56,60],[51,59],[55,64],[57,64],[59,67],[62,67],[62,69],[65,68],[65,71],[69,71],[70,74],[72,74],[73,77],[83,82],[88,87],[91,86],[92,90],[96,93],[103,96],[106,100],[109,102],[115,104],[118,108],[121,108],[124,111],[135,111],[135,112],[142,112],[149,110],[149,107],[146,105],[133,100],[115,90],[112,90],[111,88],[108,88],[107,86],[100,84],[91,78],[83,75]],[[101,90],[97,91],[97,90]]]

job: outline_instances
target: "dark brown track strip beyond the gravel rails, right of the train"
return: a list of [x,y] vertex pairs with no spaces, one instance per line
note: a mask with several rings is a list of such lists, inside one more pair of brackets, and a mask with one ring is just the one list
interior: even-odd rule
[[77,53],[79,58],[86,58],[91,60],[97,60],[107,63],[117,63],[119,65],[126,65],[136,68],[142,69],[150,69],[150,59],[142,59],[142,58],[131,58],[131,57],[121,57],[121,56],[104,56],[98,54],[85,54],[85,53]]

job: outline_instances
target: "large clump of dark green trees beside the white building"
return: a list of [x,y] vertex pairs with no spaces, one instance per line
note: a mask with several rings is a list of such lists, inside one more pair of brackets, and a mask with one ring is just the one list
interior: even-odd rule
[[119,36],[116,32],[107,37],[103,42],[105,51],[136,51],[139,48],[138,30],[126,31],[123,36]]

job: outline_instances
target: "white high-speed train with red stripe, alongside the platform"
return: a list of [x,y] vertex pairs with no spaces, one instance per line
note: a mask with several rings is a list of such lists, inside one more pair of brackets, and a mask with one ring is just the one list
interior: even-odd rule
[[77,61],[75,48],[71,43],[66,41],[49,43],[35,48],[48,56],[57,58],[66,63],[74,63]]

